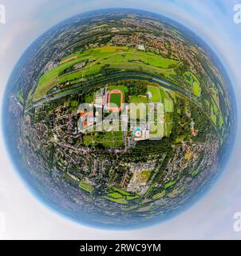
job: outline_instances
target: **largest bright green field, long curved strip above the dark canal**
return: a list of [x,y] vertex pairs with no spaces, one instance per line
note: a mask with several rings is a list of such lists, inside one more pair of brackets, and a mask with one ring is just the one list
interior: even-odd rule
[[[77,58],[58,65],[41,76],[34,95],[32,95],[32,100],[38,100],[57,84],[69,82],[71,85],[89,79],[90,76],[99,75],[105,66],[115,70],[147,72],[168,78],[169,75],[176,74],[174,71],[175,66],[180,64],[172,59],[163,58],[159,54],[142,52],[135,48],[124,46],[103,46],[89,49],[71,54],[64,59],[66,60],[73,56],[77,56]],[[86,60],[89,60],[89,62],[85,67],[63,74],[65,70]],[[170,66],[172,67],[170,68]]]

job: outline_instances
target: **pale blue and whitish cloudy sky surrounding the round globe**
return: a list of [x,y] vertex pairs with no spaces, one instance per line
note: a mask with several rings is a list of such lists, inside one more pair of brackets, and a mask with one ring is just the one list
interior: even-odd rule
[[[11,3],[1,1],[1,3],[6,5],[6,24],[0,25],[2,94],[15,62],[39,34],[57,22],[85,10],[119,6],[117,1],[68,1],[68,3],[65,1],[36,1],[31,4],[27,1],[22,1],[21,4],[17,1]],[[223,61],[234,86],[236,98],[239,98],[241,77],[238,67],[241,55],[239,49],[241,26],[235,25],[232,19],[235,3],[236,1],[229,1],[228,3],[227,1],[195,3],[191,3],[191,1],[152,1],[152,3],[147,4],[145,1],[138,1],[137,5],[137,1],[133,1],[132,4],[123,1],[122,6],[151,10],[164,14],[185,26],[188,24],[189,28],[209,43]],[[18,10],[16,6],[18,5],[19,7],[22,6],[22,12],[16,13]],[[41,13],[39,10],[42,10]],[[19,21],[18,24],[16,24],[16,19]],[[6,216],[5,232],[0,234],[3,238],[45,238],[46,233],[49,238],[68,238],[68,236],[69,238],[96,238],[97,236],[102,238],[133,238],[133,236],[146,238],[147,232],[148,238],[240,238],[240,234],[235,233],[232,228],[233,214],[236,211],[241,211],[239,205],[241,196],[239,187],[241,174],[238,167],[239,139],[235,142],[235,150],[226,170],[200,202],[168,222],[149,227],[146,230],[128,231],[128,233],[75,226],[73,222],[53,214],[50,210],[45,210],[45,207],[34,201],[33,196],[28,194],[18,176],[13,173],[3,142],[1,144],[0,185],[2,190],[0,196],[3,200],[0,205],[0,212]],[[15,190],[15,193],[12,191],[13,186],[19,191],[18,194]],[[16,213],[16,208],[22,210]],[[30,216],[30,218],[26,219],[26,216]],[[31,216],[38,216],[45,225],[36,223],[36,219]],[[19,222],[22,223],[22,228],[16,230],[13,223],[17,225]],[[48,228],[50,225],[54,228]],[[38,234],[34,233],[32,226],[35,227],[35,230],[39,230]],[[43,226],[47,227],[47,232]],[[175,230],[175,234],[173,234],[173,230]],[[84,232],[85,235],[80,234]]]

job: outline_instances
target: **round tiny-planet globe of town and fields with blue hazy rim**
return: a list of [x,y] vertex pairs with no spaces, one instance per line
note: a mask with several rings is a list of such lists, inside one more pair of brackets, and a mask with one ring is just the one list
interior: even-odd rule
[[235,100],[196,34],[99,10],[42,34],[6,86],[6,145],[30,190],[85,225],[132,229],[187,209],[223,170]]

